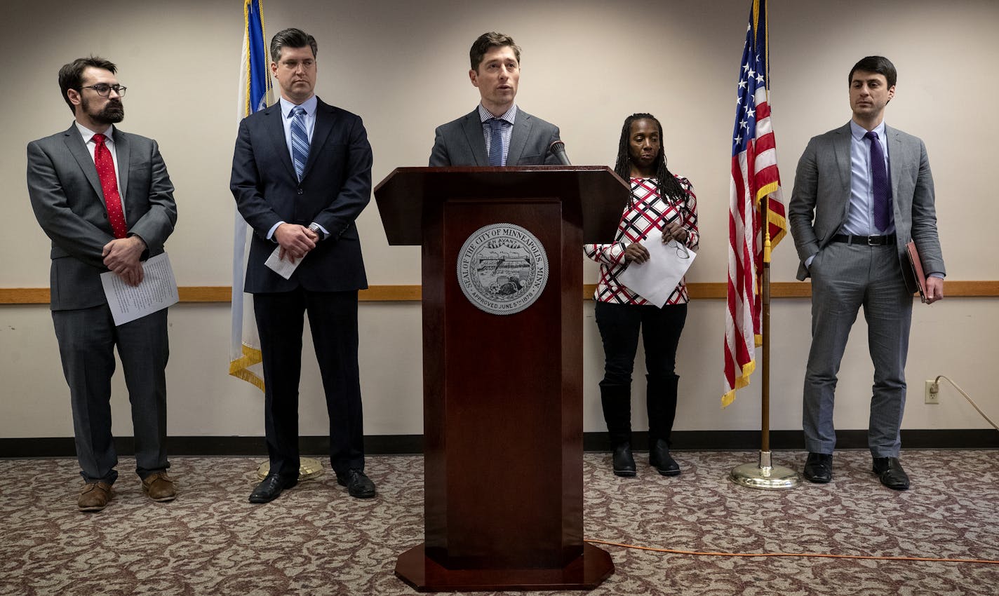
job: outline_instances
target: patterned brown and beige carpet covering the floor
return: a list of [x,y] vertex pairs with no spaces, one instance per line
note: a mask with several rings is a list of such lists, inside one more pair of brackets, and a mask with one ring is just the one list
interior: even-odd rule
[[[904,451],[912,489],[883,488],[865,451],[836,454],[834,479],[762,491],[726,479],[756,453],[679,452],[665,478],[584,458],[585,534],[657,548],[999,559],[999,451]],[[800,468],[802,453],[775,453]],[[181,491],[153,503],[123,459],[116,495],[76,511],[71,459],[0,460],[0,595],[412,594],[393,570],[422,541],[423,459],[370,457],[379,496],[350,498],[327,471],[267,505],[246,501],[258,459],[177,457]],[[999,565],[696,556],[606,549],[616,572],[594,595],[995,595]],[[484,594],[480,592],[478,594]],[[546,592],[545,594],[555,594]],[[578,594],[578,592],[557,592]]]

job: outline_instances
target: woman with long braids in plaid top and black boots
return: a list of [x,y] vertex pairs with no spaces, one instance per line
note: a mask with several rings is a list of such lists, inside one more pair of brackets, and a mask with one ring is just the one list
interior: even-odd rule
[[694,249],[697,234],[697,199],[685,178],[666,169],[662,151],[662,125],[651,114],[632,114],[621,127],[614,171],[631,182],[631,200],[621,215],[614,242],[586,245],[586,257],[600,264],[596,287],[596,326],[603,340],[604,369],[600,402],[613,447],[613,471],[635,475],[631,455],[631,370],[638,348],[638,330],[645,347],[646,407],[648,410],[648,461],[665,476],[680,473],[669,454],[669,434],[676,414],[676,346],[686,320],[687,292],[683,280],[659,308],[617,281],[628,264],[645,263],[648,250],[641,245],[653,230],[662,242],[675,240]]

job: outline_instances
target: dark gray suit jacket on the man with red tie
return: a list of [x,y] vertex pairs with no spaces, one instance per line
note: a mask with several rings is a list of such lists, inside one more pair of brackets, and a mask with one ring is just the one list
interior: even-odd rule
[[[114,129],[119,194],[129,235],[145,241],[143,259],[163,253],[174,231],[174,187],[156,141]],[[76,125],[28,144],[28,195],[35,218],[52,239],[53,310],[105,303],[101,252],[114,240],[97,168]]]

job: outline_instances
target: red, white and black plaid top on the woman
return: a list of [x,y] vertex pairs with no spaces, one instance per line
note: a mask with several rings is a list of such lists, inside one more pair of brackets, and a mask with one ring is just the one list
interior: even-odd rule
[[[685,193],[682,201],[659,197],[659,187],[654,178],[632,178],[631,200],[621,214],[614,242],[608,245],[583,246],[586,257],[600,264],[600,281],[596,285],[593,299],[618,304],[648,303],[645,298],[619,284],[617,275],[627,267],[624,249],[633,242],[643,240],[653,228],[662,230],[666,222],[676,222],[687,231],[685,244],[688,249],[695,248],[700,242],[700,234],[697,232],[697,198],[693,194],[693,186],[685,178],[675,178]],[[686,284],[681,279],[666,303],[682,304],[689,299]]]

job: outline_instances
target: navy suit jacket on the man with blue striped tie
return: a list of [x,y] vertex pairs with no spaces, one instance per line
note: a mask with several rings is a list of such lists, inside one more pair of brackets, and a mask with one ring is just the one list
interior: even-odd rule
[[[368,288],[355,221],[371,201],[372,148],[361,117],[320,100],[302,182],[285,140],[281,105],[240,123],[230,190],[254,230],[245,292],[349,292]],[[267,234],[278,222],[319,224],[330,233],[306,255],[290,280],[264,265],[278,244]]]

